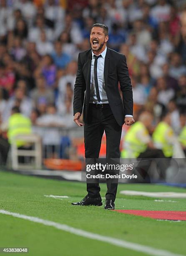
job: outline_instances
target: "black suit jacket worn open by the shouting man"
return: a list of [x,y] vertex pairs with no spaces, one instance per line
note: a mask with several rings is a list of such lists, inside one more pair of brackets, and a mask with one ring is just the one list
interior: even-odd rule
[[[84,123],[88,122],[91,60],[91,49],[80,52],[78,55],[78,71],[74,86],[73,114],[82,113],[83,110]],[[126,57],[123,54],[107,48],[104,79],[109,105],[116,121],[122,126],[125,115],[133,115],[131,79],[128,74]],[[118,81],[123,94],[123,104],[118,90]]]

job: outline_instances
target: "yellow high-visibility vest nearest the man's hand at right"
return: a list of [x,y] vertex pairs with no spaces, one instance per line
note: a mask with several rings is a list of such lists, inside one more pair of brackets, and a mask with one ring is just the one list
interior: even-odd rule
[[124,138],[124,149],[121,151],[121,158],[137,158],[140,153],[146,151],[147,144],[140,141],[137,137],[138,131],[145,136],[148,130],[140,121],[131,125]]

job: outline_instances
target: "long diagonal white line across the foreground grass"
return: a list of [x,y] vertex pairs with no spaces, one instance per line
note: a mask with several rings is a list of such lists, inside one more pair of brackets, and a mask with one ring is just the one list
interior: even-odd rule
[[150,246],[143,246],[138,243],[131,243],[131,242],[128,242],[125,240],[120,240],[120,239],[109,237],[109,236],[102,236],[102,235],[99,235],[96,233],[91,233],[91,232],[88,232],[88,231],[85,231],[82,229],[73,228],[68,225],[53,222],[50,220],[43,220],[43,219],[40,219],[37,217],[23,215],[23,214],[19,214],[16,212],[9,212],[9,211],[5,211],[5,210],[0,210],[0,213],[5,214],[5,215],[11,215],[13,217],[17,217],[17,218],[24,219],[24,220],[30,220],[30,221],[33,221],[36,223],[41,223],[43,225],[51,226],[51,227],[75,234],[77,236],[83,236],[85,238],[103,241],[106,243],[113,244],[115,246],[131,249],[133,251],[141,251],[143,253],[147,253],[147,254],[155,255],[155,256],[181,256],[180,254],[174,254],[174,253],[171,253],[166,250],[159,250],[159,249],[156,249],[156,248],[153,248]]

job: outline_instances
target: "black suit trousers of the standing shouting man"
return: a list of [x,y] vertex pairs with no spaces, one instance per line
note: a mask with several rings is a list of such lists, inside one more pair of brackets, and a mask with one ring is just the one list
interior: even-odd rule
[[[109,104],[104,104],[103,108],[96,108],[96,105],[90,104],[88,120],[84,124],[85,160],[99,158],[104,131],[106,133],[106,159],[119,159],[122,126],[116,122]],[[118,179],[107,179],[106,182],[106,199],[114,201]],[[95,183],[87,182],[87,192],[89,197],[100,197],[98,179]]]

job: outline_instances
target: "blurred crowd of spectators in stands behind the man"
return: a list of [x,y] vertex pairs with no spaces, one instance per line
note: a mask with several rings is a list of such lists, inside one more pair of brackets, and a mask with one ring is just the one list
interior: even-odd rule
[[[126,55],[134,119],[148,111],[156,126],[168,111],[178,135],[186,112],[184,10],[185,0],[0,0],[0,136],[15,106],[35,132],[76,127],[77,59],[90,48],[93,23],[105,23],[108,47]],[[59,143],[54,133],[45,133],[46,144]]]

